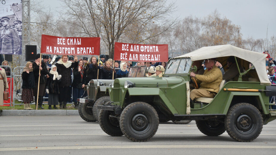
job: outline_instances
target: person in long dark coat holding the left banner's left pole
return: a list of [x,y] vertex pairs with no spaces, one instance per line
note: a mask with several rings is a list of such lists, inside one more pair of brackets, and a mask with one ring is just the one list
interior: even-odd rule
[[40,70],[38,105],[39,105],[39,108],[44,109],[42,107],[42,102],[43,102],[43,96],[45,96],[46,94],[45,85],[47,82],[46,75],[48,74],[48,70],[47,70],[47,64],[44,63],[43,61],[41,61],[41,66],[39,66],[40,59],[41,59],[40,54],[37,54],[36,60],[35,62],[33,62],[34,79],[36,83],[36,87],[34,90],[34,97],[35,97],[35,102],[37,102],[38,79],[39,79],[39,70]]

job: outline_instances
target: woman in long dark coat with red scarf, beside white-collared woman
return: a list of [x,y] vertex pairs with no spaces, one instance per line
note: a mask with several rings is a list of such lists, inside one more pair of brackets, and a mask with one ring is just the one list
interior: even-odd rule
[[83,88],[87,83],[86,80],[86,73],[85,68],[83,68],[83,60],[79,61],[78,67],[75,67],[73,70],[74,79],[72,82],[73,87],[73,102],[75,105],[75,109],[78,109],[77,98],[81,98],[84,94]]

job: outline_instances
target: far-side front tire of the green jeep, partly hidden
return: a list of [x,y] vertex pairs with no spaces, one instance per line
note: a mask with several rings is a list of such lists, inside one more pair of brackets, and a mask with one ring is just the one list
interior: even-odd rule
[[111,136],[122,136],[123,133],[120,129],[120,123],[118,119],[110,117],[117,116],[116,114],[112,114],[113,111],[108,110],[100,110],[99,113],[99,124],[101,129]]

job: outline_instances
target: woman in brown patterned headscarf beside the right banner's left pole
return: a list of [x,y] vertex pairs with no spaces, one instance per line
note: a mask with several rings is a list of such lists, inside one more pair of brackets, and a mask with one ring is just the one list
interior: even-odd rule
[[114,72],[114,79],[117,78],[117,74],[114,68],[110,67],[110,61],[106,61],[104,66],[100,69],[99,79],[111,79],[113,77]]

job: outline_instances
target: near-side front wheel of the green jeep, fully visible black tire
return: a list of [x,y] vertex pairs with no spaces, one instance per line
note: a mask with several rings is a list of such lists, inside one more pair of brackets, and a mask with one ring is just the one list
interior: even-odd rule
[[120,116],[123,134],[134,142],[145,142],[152,138],[158,125],[159,118],[156,110],[145,102],[129,104]]

